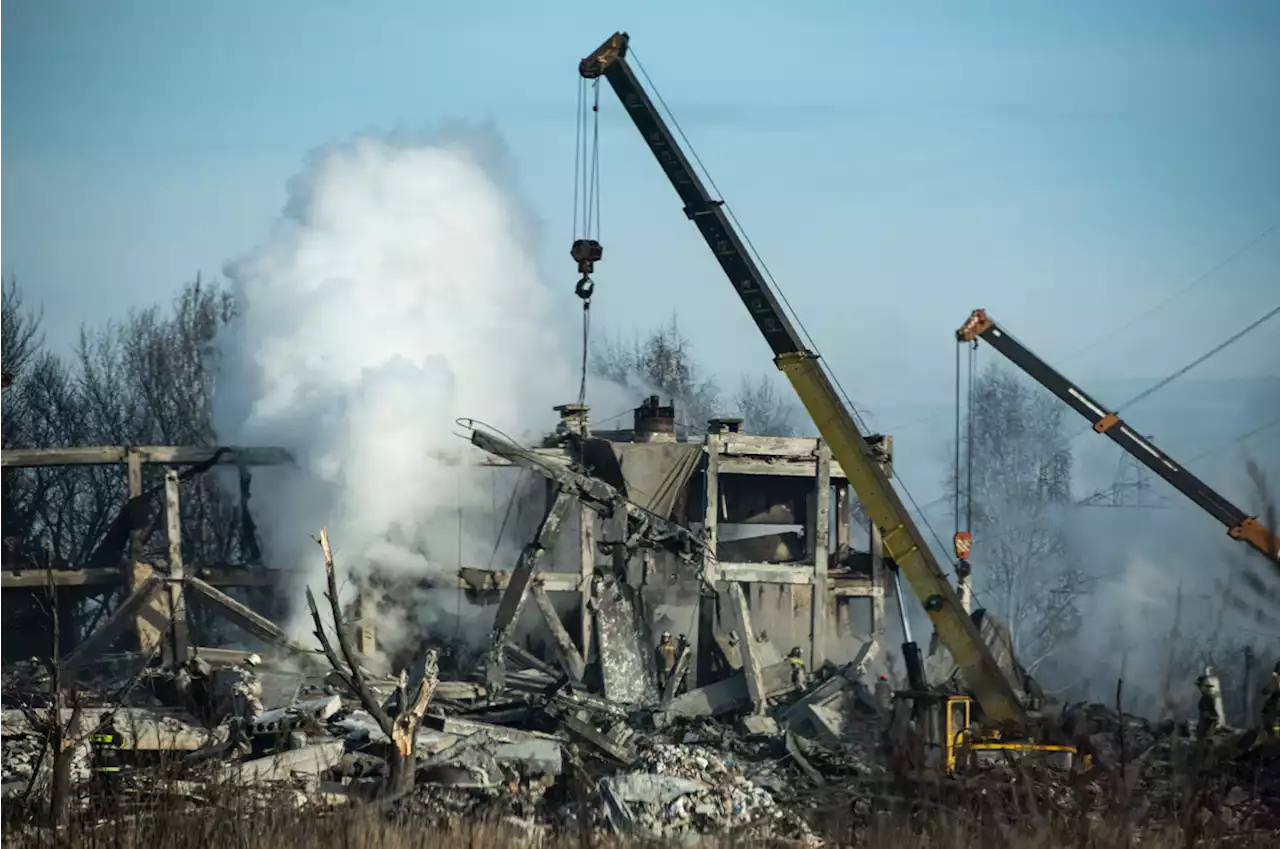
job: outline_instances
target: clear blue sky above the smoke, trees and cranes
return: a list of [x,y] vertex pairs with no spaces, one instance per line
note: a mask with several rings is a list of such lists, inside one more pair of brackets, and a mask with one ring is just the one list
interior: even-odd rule
[[[0,0],[0,273],[67,343],[252,247],[315,146],[463,119],[511,145],[576,310],[576,63],[618,28],[882,426],[950,403],[973,307],[1119,401],[1100,382],[1142,385],[1280,303],[1276,232],[1108,337],[1280,222],[1268,0]],[[768,369],[604,93],[598,325],[678,310],[726,384]],[[1280,319],[1194,376],[1274,378],[1276,351]]]

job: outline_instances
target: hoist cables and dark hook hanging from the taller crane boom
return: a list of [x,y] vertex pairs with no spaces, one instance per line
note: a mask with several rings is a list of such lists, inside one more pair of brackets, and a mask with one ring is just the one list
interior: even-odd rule
[[588,81],[579,78],[577,131],[573,145],[573,247],[570,256],[577,263],[579,279],[573,293],[582,300],[582,373],[577,402],[586,403],[586,365],[591,338],[591,296],[595,282],[591,273],[603,256],[600,248],[600,81],[590,82],[591,109],[588,114]]

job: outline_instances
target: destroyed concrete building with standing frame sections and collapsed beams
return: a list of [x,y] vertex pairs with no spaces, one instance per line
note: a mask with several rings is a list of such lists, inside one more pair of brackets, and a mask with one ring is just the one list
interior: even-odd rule
[[[557,739],[538,731],[536,721],[530,727],[527,720],[517,721],[521,730],[502,731],[494,722],[503,715],[518,720],[521,709],[513,715],[509,702],[495,706],[499,695],[527,702],[530,694],[552,688],[548,707],[558,727],[612,762],[632,764],[641,757],[632,739],[637,709],[659,726],[745,713],[758,720],[750,727],[768,730],[771,700],[800,686],[795,663],[786,657],[794,649],[800,649],[806,670],[829,668],[828,662],[865,665],[874,656],[884,607],[877,534],[868,531],[872,551],[854,551],[849,487],[820,441],[745,434],[732,419],[714,420],[705,433],[678,439],[675,410],[657,398],[636,408],[635,426],[625,432],[591,433],[584,406],[559,411],[557,432],[535,447],[472,430],[472,443],[486,452],[483,462],[543,474],[547,485],[522,497],[538,501],[544,519],[516,563],[494,570],[466,567],[457,576],[458,588],[474,602],[497,602],[492,643],[483,647],[485,657],[471,675],[435,685],[438,704],[471,706],[466,713],[475,718],[449,716],[448,709],[426,716],[419,745],[429,756],[428,766],[431,753],[442,749],[442,735],[454,740],[497,735],[507,744],[535,748],[535,740]],[[878,444],[887,465],[890,441]],[[276,449],[172,447],[6,451],[0,456],[6,470],[123,466],[129,501],[90,566],[12,563],[3,575],[3,603],[58,601],[64,622],[60,671],[64,681],[76,680],[77,698],[91,702],[78,720],[82,736],[106,708],[133,730],[134,756],[188,752],[193,763],[233,758],[243,764],[236,767],[242,777],[282,768],[293,776],[335,768],[349,745],[344,748],[340,739],[325,741],[334,730],[355,735],[357,748],[376,745],[379,731],[360,718],[358,708],[353,713],[355,706],[324,695],[324,684],[296,684],[292,695],[288,686],[268,688],[270,709],[250,726],[255,739],[280,734],[289,739],[238,752],[236,731],[225,725],[227,704],[198,711],[182,691],[189,680],[175,684],[192,658],[210,667],[218,681],[221,671],[233,671],[255,649],[269,652],[265,679],[273,675],[273,657],[288,661],[291,671],[284,676],[315,680],[323,674],[315,654],[291,643],[273,621],[287,599],[271,595],[288,586],[287,574],[261,563],[188,563],[183,556],[184,476],[218,464],[237,465],[243,484],[241,530],[252,534],[248,467],[288,460]],[[151,489],[141,485],[145,465],[161,466]],[[163,549],[147,539],[147,530],[156,528],[164,529]],[[742,533],[753,528],[765,533]],[[556,565],[544,562],[548,549],[559,552],[556,563],[577,567],[543,569]],[[259,611],[229,594],[246,588],[265,590],[265,599],[255,599]],[[376,616],[362,616],[361,607],[387,603],[387,592],[385,584],[366,584],[351,611],[349,621],[356,624],[351,636],[366,657],[378,651]],[[113,603],[113,598],[120,601]],[[527,599],[534,603],[526,604]],[[233,639],[238,648],[193,639],[191,606],[214,611],[239,629],[241,639]],[[526,610],[534,617],[536,639],[520,645],[512,636]],[[5,720],[5,736],[19,748],[31,731],[24,711],[63,703],[49,691],[52,665],[45,657],[45,639],[32,640],[35,634],[47,636],[49,617],[23,626],[9,651],[12,659],[22,662],[8,679],[13,711]],[[654,659],[658,635],[664,631],[680,639],[678,668],[666,680]],[[33,642],[41,651],[27,661]],[[113,704],[111,681],[131,676],[141,676],[143,686],[127,695],[125,704]],[[393,683],[378,686],[384,695],[394,691]],[[310,744],[306,734],[294,739],[301,730],[321,739]],[[264,747],[268,761],[260,761]],[[41,764],[27,749],[6,779],[13,788],[40,775]],[[460,752],[451,757],[461,757]],[[556,763],[558,772],[558,754]],[[625,804],[627,786],[618,785],[616,794],[622,795],[616,795],[616,804]]]

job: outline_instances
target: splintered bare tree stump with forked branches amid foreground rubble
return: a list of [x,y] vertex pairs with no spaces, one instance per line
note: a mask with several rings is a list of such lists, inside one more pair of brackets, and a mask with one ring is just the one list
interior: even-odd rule
[[329,531],[320,530],[320,549],[324,552],[325,571],[325,598],[329,602],[329,615],[333,620],[333,631],[338,642],[338,651],[334,651],[333,642],[325,629],[316,606],[311,588],[307,588],[307,607],[311,608],[311,620],[315,624],[315,635],[320,640],[325,657],[333,671],[342,679],[347,690],[360,699],[360,704],[374,718],[378,727],[392,741],[387,756],[387,773],[383,782],[383,795],[401,796],[413,786],[417,771],[417,730],[422,725],[422,717],[431,703],[431,694],[435,691],[438,680],[438,665],[435,649],[426,653],[422,668],[422,680],[417,684],[412,699],[410,698],[408,674],[403,670],[399,674],[397,690],[397,712],[393,717],[369,686],[360,659],[351,644],[351,624],[342,611],[342,602],[338,598],[338,576],[333,565],[333,549],[329,546]]

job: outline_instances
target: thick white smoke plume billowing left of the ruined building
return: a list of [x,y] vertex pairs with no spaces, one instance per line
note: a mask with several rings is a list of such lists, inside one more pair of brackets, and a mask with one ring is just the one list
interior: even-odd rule
[[298,462],[255,475],[273,566],[314,583],[328,526],[347,569],[452,570],[460,515],[494,501],[454,420],[529,437],[576,396],[575,334],[507,175],[488,132],[329,147],[228,266],[239,315],[218,341],[219,438]]

